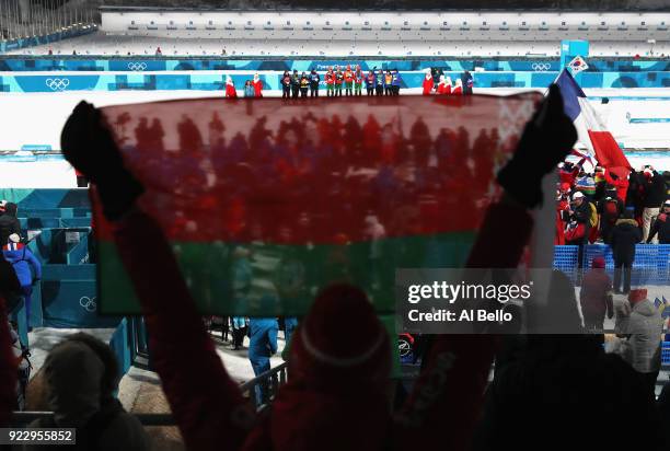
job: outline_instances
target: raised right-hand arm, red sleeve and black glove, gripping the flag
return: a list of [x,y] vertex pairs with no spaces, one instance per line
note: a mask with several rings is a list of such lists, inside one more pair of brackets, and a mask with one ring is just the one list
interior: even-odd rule
[[[467,267],[518,266],[533,226],[529,210],[542,201],[542,177],[555,170],[576,139],[563,113],[558,88],[552,85],[547,101],[527,125],[515,157],[498,174],[506,194],[488,208]],[[470,449],[494,351],[492,335],[436,337],[428,365],[398,416],[398,449]]]

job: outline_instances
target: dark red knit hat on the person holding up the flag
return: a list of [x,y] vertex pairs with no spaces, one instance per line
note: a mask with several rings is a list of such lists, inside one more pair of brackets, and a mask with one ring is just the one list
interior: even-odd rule
[[[342,325],[351,319],[358,333],[343,334]],[[340,385],[389,375],[389,335],[357,287],[338,284],[321,291],[293,337],[289,365],[305,382]]]

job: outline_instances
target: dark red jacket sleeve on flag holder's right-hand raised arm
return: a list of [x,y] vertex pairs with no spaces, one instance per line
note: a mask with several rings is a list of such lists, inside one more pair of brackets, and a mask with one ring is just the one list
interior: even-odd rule
[[[524,208],[511,204],[493,205],[466,266],[516,267],[532,224]],[[398,417],[397,449],[470,449],[494,351],[490,335],[437,336],[428,366]]]

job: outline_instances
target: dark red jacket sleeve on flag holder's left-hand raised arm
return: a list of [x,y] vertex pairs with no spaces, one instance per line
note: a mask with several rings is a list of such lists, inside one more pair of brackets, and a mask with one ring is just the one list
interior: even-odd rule
[[134,210],[115,224],[115,240],[186,448],[239,449],[254,414],[226,372],[159,226]]

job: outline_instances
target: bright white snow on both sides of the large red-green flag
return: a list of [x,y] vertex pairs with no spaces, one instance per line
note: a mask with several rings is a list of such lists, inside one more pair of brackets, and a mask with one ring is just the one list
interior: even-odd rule
[[[507,95],[513,89],[481,89],[480,93]],[[404,90],[417,94],[418,89]],[[242,94],[240,92],[240,94]],[[596,109],[620,144],[633,149],[670,149],[670,89],[586,90]],[[212,91],[76,91],[60,93],[0,93],[0,150],[19,150],[24,144],[46,144],[60,149],[60,130],[72,108],[80,101],[95,106],[157,102],[174,99],[222,97]],[[266,91],[278,96],[278,91]],[[610,101],[602,103],[602,97]],[[631,122],[629,119],[643,119]],[[650,119],[644,122],[644,119]],[[667,122],[660,122],[666,119]],[[631,154],[634,166],[652,164],[670,171],[670,153],[639,152]],[[20,166],[19,166],[20,165]],[[10,162],[0,157],[0,187],[71,187],[72,170],[63,161],[30,164]],[[19,167],[21,169],[19,171]]]

